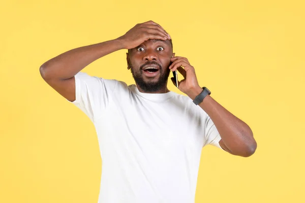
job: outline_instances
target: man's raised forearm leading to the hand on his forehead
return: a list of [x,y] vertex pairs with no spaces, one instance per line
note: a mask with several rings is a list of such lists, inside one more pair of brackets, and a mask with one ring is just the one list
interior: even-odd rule
[[44,79],[69,79],[93,61],[123,48],[116,39],[72,49],[43,63],[40,72]]

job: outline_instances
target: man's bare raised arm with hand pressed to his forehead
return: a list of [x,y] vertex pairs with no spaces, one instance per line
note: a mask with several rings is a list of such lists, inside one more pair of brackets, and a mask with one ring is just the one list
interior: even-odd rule
[[40,74],[60,95],[74,101],[74,76],[84,67],[105,55],[121,49],[132,49],[149,39],[169,40],[170,36],[153,21],[140,23],[117,39],[72,49],[51,58],[40,66]]

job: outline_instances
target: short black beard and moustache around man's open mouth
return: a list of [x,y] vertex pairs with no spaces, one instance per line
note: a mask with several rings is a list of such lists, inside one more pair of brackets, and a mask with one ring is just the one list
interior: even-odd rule
[[[158,81],[145,81],[143,78],[143,72],[142,69],[145,65],[148,64],[156,64],[159,66],[159,79]],[[161,90],[162,88],[166,87],[168,76],[170,73],[169,69],[163,69],[162,66],[155,62],[155,61],[147,61],[143,65],[140,66],[139,71],[135,71],[132,64],[130,63],[130,70],[132,73],[133,78],[135,79],[136,84],[145,92],[157,92]]]

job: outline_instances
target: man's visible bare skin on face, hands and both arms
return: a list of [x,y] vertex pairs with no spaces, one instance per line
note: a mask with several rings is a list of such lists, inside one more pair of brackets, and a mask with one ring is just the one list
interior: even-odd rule
[[[75,100],[75,78],[89,63],[120,49],[131,49],[127,54],[128,69],[139,73],[145,61],[155,61],[162,71],[153,78],[143,76],[144,81],[157,81],[166,69],[177,70],[183,77],[178,89],[194,99],[202,88],[198,84],[195,69],[187,58],[175,56],[169,43],[170,36],[157,23],[148,21],[135,25],[124,36],[115,40],[76,48],[56,56],[40,67],[43,79],[59,94],[70,101]],[[163,49],[159,49],[162,47]],[[143,48],[138,50],[138,48]],[[73,58],[73,60],[71,60]],[[170,62],[172,62],[171,65]],[[173,81],[174,83],[174,81]],[[139,88],[139,87],[138,87]],[[139,91],[142,91],[139,88]],[[153,93],[168,92],[166,85]],[[151,93],[151,92],[149,92]],[[217,127],[221,141],[220,146],[227,152],[248,157],[257,147],[251,128],[232,113],[222,107],[210,95],[206,96],[199,106],[209,115]]]

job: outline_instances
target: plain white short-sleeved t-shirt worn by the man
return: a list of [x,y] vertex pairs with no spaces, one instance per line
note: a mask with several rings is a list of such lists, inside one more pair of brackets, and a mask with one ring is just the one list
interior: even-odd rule
[[219,132],[188,96],[142,93],[117,80],[75,76],[73,101],[96,127],[99,203],[194,202],[202,147]]

